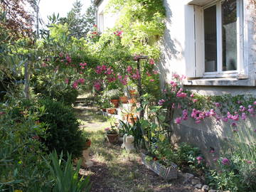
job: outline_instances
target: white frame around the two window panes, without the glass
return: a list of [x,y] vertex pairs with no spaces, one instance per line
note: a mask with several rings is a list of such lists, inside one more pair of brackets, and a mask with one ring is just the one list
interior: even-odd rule
[[[216,5],[216,25],[217,25],[217,71],[215,72],[206,72],[205,67],[205,33],[204,33],[204,16],[202,18],[203,25],[203,78],[222,78],[222,77],[237,77],[241,73],[245,73],[245,65],[243,61],[243,2],[242,0],[237,1],[237,70],[228,70],[223,71],[223,50],[222,50],[222,18],[221,18],[221,2],[215,1],[210,4],[206,4],[202,9],[207,9],[210,6]],[[202,10],[202,11],[203,11]]]

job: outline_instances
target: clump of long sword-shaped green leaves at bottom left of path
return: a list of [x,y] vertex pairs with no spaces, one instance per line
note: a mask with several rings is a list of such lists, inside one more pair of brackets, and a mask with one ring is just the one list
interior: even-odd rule
[[91,183],[90,178],[78,178],[79,169],[81,166],[81,159],[78,162],[77,167],[74,169],[72,164],[71,154],[68,154],[68,160],[64,161],[62,159],[63,154],[58,154],[53,151],[50,154],[50,162],[48,162],[48,167],[50,173],[53,176],[53,192],[88,192],[90,191]]

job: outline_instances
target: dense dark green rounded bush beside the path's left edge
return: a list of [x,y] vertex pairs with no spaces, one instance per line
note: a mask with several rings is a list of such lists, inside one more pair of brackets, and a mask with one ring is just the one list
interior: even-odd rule
[[40,117],[40,122],[48,124],[48,136],[44,143],[49,151],[55,149],[58,154],[62,151],[63,154],[70,153],[73,158],[81,156],[85,138],[82,137],[73,108],[50,99],[40,100],[39,104],[46,109],[46,113]]

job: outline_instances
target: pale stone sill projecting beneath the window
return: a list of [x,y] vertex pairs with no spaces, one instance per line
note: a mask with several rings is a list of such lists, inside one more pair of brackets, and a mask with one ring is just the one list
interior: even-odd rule
[[245,86],[255,87],[256,80],[238,80],[237,78],[212,78],[212,79],[198,79],[198,80],[186,80],[183,85],[187,86]]

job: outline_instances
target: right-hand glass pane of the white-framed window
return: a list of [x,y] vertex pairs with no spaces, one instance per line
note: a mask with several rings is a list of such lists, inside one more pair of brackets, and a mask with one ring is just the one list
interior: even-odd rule
[[237,4],[236,0],[225,0],[221,4],[223,70],[237,70]]

